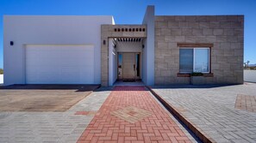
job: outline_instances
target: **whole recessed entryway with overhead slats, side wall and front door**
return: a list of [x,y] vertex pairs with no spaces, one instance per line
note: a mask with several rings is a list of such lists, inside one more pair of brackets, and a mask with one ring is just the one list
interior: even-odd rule
[[[145,79],[143,38],[109,39],[109,86],[116,81],[135,82]],[[143,67],[144,66],[144,67]]]

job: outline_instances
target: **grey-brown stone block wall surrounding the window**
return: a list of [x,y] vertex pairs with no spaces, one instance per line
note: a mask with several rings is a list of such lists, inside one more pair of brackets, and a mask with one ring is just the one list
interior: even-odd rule
[[207,83],[243,83],[244,16],[155,16],[155,84],[189,84],[178,77],[178,43],[207,43],[211,73]]

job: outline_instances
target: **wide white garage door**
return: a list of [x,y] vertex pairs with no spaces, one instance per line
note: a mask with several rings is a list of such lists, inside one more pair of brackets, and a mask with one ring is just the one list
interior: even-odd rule
[[93,84],[93,45],[27,45],[27,84]]

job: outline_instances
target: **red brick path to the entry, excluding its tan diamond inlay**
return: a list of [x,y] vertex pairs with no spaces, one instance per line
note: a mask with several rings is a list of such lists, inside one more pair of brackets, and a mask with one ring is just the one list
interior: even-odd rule
[[[130,123],[117,116],[125,107],[147,110],[138,122]],[[112,114],[111,114],[112,113]],[[136,111],[131,114],[135,115]],[[78,142],[190,142],[144,86],[116,86]]]

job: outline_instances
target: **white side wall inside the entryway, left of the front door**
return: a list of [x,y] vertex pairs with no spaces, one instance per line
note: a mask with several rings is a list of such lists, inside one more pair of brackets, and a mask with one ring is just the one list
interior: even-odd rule
[[109,86],[113,86],[117,79],[117,52],[113,39],[109,39]]

